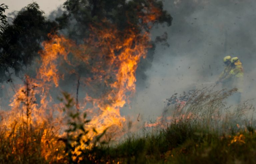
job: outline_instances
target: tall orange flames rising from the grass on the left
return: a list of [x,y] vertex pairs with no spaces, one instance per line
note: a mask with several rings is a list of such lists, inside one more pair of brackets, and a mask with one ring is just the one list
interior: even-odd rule
[[[145,7],[139,18],[143,23],[149,23],[160,15],[161,12],[151,5]],[[111,22],[103,20],[103,23],[108,26],[103,29],[91,26],[90,36],[81,44],[59,34],[49,34],[50,40],[42,43],[36,77],[26,76],[25,85],[20,86],[11,101],[12,110],[2,116],[1,127],[5,127],[6,136],[16,135],[18,131],[22,134],[18,137],[22,145],[17,145],[13,151],[23,146],[22,154],[29,151],[30,142],[38,142],[41,155],[46,160],[63,152],[63,145],[61,147],[57,139],[65,136],[63,129],[66,128],[67,114],[61,110],[63,103],[54,101],[52,90],[62,90],[60,81],[72,74],[79,79],[81,76],[79,84],[90,91],[83,101],[78,102],[77,99],[76,104],[77,109],[88,113],[90,118],[85,125],[89,132],[82,139],[93,140],[106,129],[108,133],[121,132],[126,119],[121,116],[120,109],[135,93],[135,72],[140,59],[146,57],[147,49],[151,47],[150,36],[147,30],[138,31],[131,27],[120,31]],[[143,28],[143,25],[137,26]],[[89,71],[81,74],[77,69],[79,66]],[[79,88],[77,96],[78,91]],[[20,130],[17,127],[24,128]],[[29,135],[32,129],[36,129],[40,140]],[[73,153],[79,154],[80,148],[88,147],[82,145]],[[64,155],[57,154],[54,159],[62,159]]]

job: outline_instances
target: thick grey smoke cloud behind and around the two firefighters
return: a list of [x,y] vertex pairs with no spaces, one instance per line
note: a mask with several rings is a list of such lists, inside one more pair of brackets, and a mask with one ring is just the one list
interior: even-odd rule
[[172,26],[159,26],[152,38],[166,31],[170,46],[156,47],[147,85],[130,105],[134,115],[154,119],[172,94],[214,84],[227,55],[243,64],[243,100],[255,98],[256,1],[168,0],[164,7]]

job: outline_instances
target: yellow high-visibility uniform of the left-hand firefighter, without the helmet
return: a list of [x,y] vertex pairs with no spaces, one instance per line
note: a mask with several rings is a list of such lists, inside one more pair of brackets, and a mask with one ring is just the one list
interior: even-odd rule
[[231,64],[226,65],[219,76],[218,81],[222,83],[222,89],[232,89],[232,76],[229,75],[231,69]]

